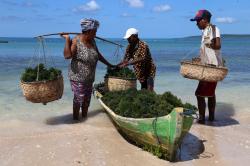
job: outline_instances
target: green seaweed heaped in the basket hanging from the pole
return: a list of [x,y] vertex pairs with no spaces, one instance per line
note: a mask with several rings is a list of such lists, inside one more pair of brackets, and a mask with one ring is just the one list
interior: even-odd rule
[[21,76],[21,80],[24,82],[55,80],[61,76],[61,74],[61,70],[53,67],[47,69],[44,64],[40,63],[34,68],[26,68]]

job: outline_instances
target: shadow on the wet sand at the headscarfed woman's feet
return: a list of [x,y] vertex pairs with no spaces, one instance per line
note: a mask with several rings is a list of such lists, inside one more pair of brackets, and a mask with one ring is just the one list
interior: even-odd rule
[[99,113],[102,113],[103,111],[101,109],[98,110],[91,110],[88,113],[88,117],[82,119],[81,118],[81,113],[80,113],[80,120],[73,120],[73,115],[71,114],[66,114],[66,115],[62,115],[62,116],[57,116],[57,117],[51,117],[46,119],[46,124],[48,125],[61,125],[61,124],[74,124],[74,123],[81,123],[86,121],[88,118],[94,117]]

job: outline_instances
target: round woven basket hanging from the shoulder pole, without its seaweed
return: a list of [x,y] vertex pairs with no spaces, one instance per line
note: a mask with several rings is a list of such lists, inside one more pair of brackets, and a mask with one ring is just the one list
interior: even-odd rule
[[21,88],[26,100],[33,103],[43,103],[58,100],[63,94],[63,77],[52,81],[23,82]]

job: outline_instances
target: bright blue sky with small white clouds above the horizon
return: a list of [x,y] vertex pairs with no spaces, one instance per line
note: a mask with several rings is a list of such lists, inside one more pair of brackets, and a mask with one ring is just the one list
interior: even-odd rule
[[0,0],[0,37],[80,32],[80,19],[100,22],[97,35],[122,38],[128,28],[141,38],[200,35],[194,17],[212,13],[222,34],[250,34],[250,0]]

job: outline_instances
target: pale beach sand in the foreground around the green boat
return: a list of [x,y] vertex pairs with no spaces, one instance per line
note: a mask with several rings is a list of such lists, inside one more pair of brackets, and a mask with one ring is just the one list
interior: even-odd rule
[[248,165],[250,112],[219,103],[216,117],[206,125],[194,121],[175,163],[128,143],[101,109],[91,109],[81,122],[72,120],[70,110],[34,121],[6,120],[0,125],[0,165]]

